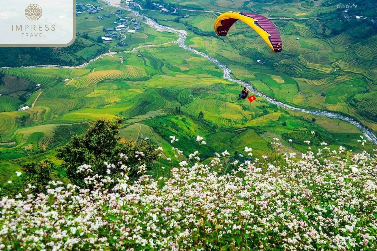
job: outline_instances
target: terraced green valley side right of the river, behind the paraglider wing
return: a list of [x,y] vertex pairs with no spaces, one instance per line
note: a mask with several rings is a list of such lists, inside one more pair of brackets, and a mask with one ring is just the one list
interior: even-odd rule
[[[377,132],[377,107],[372,98],[377,90],[373,1],[356,1],[350,8],[342,8],[341,1],[164,3],[173,4],[178,17],[148,10],[143,13],[167,26],[194,27],[185,44],[227,65],[233,77],[251,82],[257,90],[284,103],[345,114]],[[215,18],[226,11],[271,18],[282,35],[283,51],[271,53],[262,39],[240,22],[231,28],[231,35],[213,36]]]

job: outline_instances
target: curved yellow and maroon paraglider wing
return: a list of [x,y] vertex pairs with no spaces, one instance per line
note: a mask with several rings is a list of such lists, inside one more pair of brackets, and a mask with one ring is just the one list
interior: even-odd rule
[[253,28],[273,52],[282,51],[283,43],[279,31],[267,17],[261,15],[247,12],[226,12],[221,14],[215,21],[216,34],[226,36],[230,27],[237,20],[241,20]]

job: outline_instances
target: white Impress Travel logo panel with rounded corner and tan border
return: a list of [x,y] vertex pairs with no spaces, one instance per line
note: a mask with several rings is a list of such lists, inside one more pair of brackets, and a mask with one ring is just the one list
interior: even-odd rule
[[69,46],[76,38],[75,0],[12,0],[0,10],[0,46]]

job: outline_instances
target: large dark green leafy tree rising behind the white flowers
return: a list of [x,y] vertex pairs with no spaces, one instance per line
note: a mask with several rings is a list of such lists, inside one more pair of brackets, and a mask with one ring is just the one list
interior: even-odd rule
[[[64,161],[62,167],[67,169],[67,177],[73,184],[84,187],[84,178],[95,174],[116,179],[124,172],[122,165],[130,168],[129,177],[133,180],[141,175],[137,172],[140,164],[146,164],[146,170],[152,169],[151,164],[161,151],[156,151],[156,146],[145,140],[138,143],[127,140],[120,142],[118,134],[121,122],[121,119],[115,122],[96,120],[84,135],[74,136],[69,143],[57,148],[57,157]],[[114,165],[110,173],[105,161]],[[90,165],[93,173],[77,172],[78,167],[83,164]]]

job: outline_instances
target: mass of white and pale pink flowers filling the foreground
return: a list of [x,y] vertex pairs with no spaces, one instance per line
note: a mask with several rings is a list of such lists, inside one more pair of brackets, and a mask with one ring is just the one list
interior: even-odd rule
[[174,148],[170,178],[141,165],[136,182],[124,167],[116,181],[88,176],[90,190],[54,181],[45,194],[4,197],[0,249],[377,249],[377,154],[273,147],[248,164],[227,151],[203,164]]

